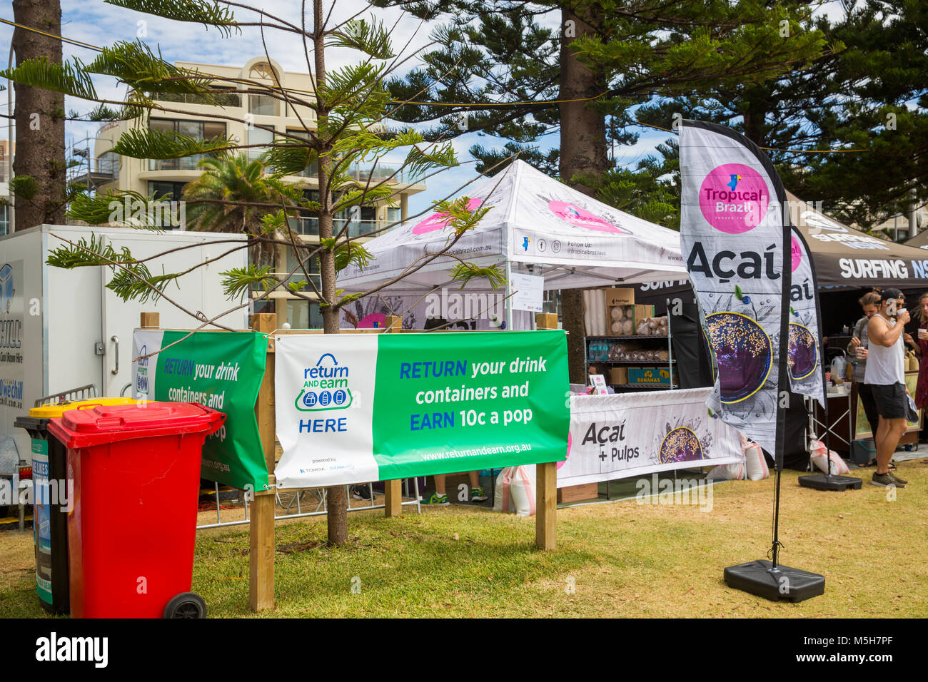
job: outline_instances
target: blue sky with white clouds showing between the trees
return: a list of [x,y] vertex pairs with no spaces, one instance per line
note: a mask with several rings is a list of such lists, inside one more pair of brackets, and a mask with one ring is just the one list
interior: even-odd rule
[[[363,12],[361,17],[371,17],[383,21],[387,27],[393,27],[393,50],[408,58],[403,62],[399,73],[418,66],[419,56],[429,48],[431,42],[430,32],[437,22],[422,23],[419,19],[411,17],[401,10],[374,9],[370,10],[364,0],[323,0],[327,10],[331,9],[332,22],[348,19],[357,12]],[[246,0],[247,2],[247,0]],[[264,11],[279,16],[292,23],[300,23],[301,4],[294,0],[262,0],[258,4]],[[307,4],[311,7],[311,3]],[[237,7],[236,19],[239,21],[259,20],[258,15]],[[244,27],[240,34],[233,32],[231,37],[225,37],[214,28],[207,29],[200,24],[193,24],[170,19],[161,19],[151,15],[142,14],[119,6],[108,5],[103,0],[61,0],[61,33],[65,37],[82,41],[91,45],[112,45],[116,41],[133,41],[136,38],[143,40],[153,51],[161,51],[162,58],[168,61],[194,61],[207,64],[226,64],[238,66],[250,58],[264,55],[261,29],[259,27]],[[311,10],[307,21],[311,23]],[[841,12],[840,2],[824,2],[818,7],[817,13],[825,13],[837,18]],[[0,9],[0,17],[13,19],[12,6]],[[544,26],[556,27],[559,25],[560,14],[551,12],[546,16],[537,18]],[[6,24],[0,24],[0,45],[10,44],[13,29]],[[300,38],[288,32],[265,30],[266,44],[270,57],[285,71],[306,71],[306,62],[303,55],[303,45]],[[96,52],[84,47],[64,44],[64,57],[80,58],[84,62],[92,60]],[[358,60],[357,52],[346,49],[334,49],[327,53],[328,68],[337,68]],[[312,58],[312,53],[310,53]],[[115,79],[99,76],[95,78],[97,94],[101,97],[122,100],[125,97],[125,87],[115,82]],[[77,111],[85,115],[93,108],[93,103],[68,97],[65,109]],[[6,104],[6,93],[0,95],[0,112],[9,113]],[[3,121],[6,121],[4,119]],[[97,134],[99,123],[68,122],[66,125],[66,143],[68,147],[75,142],[91,138]],[[0,139],[6,138],[6,125],[2,126]],[[654,148],[664,142],[667,133],[651,129],[639,129],[638,142],[629,147],[616,148],[616,158],[621,164],[634,168],[638,161],[654,153]],[[14,135],[15,136],[15,135]],[[432,205],[432,201],[444,199],[458,187],[469,182],[476,175],[473,158],[468,149],[474,144],[484,147],[502,147],[503,141],[495,137],[469,134],[461,135],[453,142],[458,152],[461,165],[430,178],[427,182],[427,191],[410,198],[409,213],[415,214],[424,211]],[[538,142],[542,148],[551,148],[558,144],[557,135],[548,135]],[[91,140],[91,148],[93,141]],[[79,147],[86,146],[78,144]]]

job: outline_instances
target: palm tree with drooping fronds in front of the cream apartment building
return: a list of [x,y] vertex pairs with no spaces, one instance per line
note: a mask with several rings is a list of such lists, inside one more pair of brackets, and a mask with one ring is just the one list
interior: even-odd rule
[[[200,161],[203,174],[184,187],[187,226],[204,232],[234,232],[249,236],[254,264],[275,264],[275,245],[259,240],[268,232],[264,216],[293,206],[300,190],[280,181],[280,174],[266,172],[264,157],[249,159],[245,153],[206,156]],[[264,205],[255,205],[264,204]]]

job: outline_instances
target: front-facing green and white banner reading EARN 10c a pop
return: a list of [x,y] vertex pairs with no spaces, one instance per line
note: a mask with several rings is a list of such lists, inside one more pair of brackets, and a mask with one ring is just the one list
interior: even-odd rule
[[561,461],[563,331],[281,335],[285,488]]

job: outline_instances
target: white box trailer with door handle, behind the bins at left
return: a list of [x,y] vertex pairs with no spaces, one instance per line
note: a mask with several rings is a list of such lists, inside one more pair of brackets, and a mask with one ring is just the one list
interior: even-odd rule
[[[220,273],[247,264],[247,249],[223,255],[239,245],[230,239],[244,245],[244,235],[39,225],[0,238],[0,415],[2,433],[13,439],[22,459],[30,458],[30,440],[13,421],[27,414],[37,398],[91,384],[97,396],[116,396],[131,384],[132,331],[139,313],[160,313],[162,328],[199,324],[163,298],[122,302],[106,288],[113,277],[109,267],[67,270],[45,263],[49,251],[66,246],[65,240],[89,241],[91,234],[116,251],[127,247],[136,259],[194,245],[148,261],[152,274],[161,274],[162,266],[176,273],[222,256],[172,282],[165,294],[207,318],[243,301],[226,299]],[[247,328],[248,308],[218,321]],[[131,395],[131,389],[125,394]],[[9,440],[0,440],[9,453]],[[5,474],[0,470],[0,476]]]

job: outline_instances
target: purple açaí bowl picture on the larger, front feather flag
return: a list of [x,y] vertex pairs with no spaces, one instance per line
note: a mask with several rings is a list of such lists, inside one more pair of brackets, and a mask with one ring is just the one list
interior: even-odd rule
[[773,344],[753,319],[723,311],[706,315],[706,338],[715,355],[723,403],[740,403],[758,392],[772,366]]

